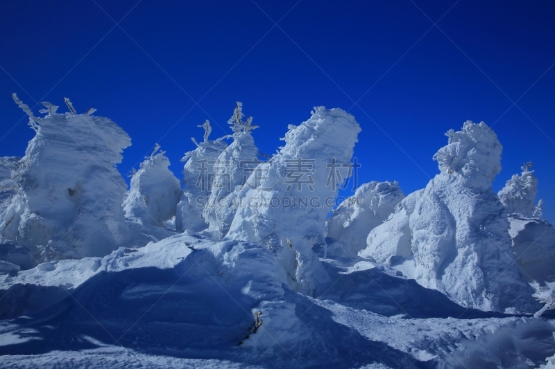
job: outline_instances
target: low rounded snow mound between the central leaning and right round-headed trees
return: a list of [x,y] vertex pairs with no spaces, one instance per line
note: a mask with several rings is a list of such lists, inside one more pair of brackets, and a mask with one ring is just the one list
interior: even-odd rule
[[[364,183],[355,195],[343,201],[327,220],[327,237],[341,242],[337,250],[328,253],[353,257],[366,248],[366,237],[382,224],[404,199],[397,182]],[[337,244],[334,244],[337,245]]]

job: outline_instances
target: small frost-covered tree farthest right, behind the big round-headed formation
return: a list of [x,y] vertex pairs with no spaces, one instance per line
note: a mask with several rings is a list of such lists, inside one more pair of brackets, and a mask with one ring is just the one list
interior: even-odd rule
[[505,187],[497,195],[505,206],[507,213],[519,213],[531,217],[536,209],[536,195],[538,194],[538,179],[530,170],[532,163],[522,165],[522,174],[514,174]]

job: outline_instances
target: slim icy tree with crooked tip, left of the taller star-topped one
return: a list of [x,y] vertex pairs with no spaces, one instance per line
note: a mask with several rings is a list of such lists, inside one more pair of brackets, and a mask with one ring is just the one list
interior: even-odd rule
[[207,228],[203,210],[212,190],[214,163],[225,147],[228,147],[228,144],[223,141],[228,138],[227,136],[214,141],[209,139],[212,127],[208,120],[198,127],[205,130],[203,142],[198,143],[195,138],[191,138],[196,149],[186,152],[181,159],[185,161],[182,172],[185,188],[176,211],[176,228],[180,232],[187,230],[198,232]]

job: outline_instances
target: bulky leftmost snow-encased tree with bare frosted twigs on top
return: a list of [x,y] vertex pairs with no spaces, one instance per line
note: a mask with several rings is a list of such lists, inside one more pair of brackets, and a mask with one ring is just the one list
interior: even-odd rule
[[0,235],[26,246],[36,260],[102,256],[128,241],[121,208],[126,183],[115,168],[129,136],[108,118],[57,114],[49,102],[29,116],[35,137],[12,168],[17,194],[0,214]]

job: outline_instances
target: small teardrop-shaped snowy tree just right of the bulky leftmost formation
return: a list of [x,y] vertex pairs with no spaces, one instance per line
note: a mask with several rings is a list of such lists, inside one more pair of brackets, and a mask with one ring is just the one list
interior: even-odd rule
[[134,222],[163,227],[165,221],[176,216],[181,187],[164,154],[156,144],[151,156],[146,156],[131,178],[123,209]]

